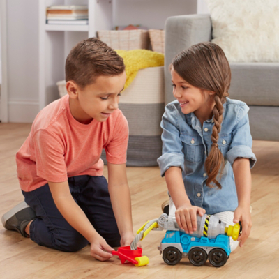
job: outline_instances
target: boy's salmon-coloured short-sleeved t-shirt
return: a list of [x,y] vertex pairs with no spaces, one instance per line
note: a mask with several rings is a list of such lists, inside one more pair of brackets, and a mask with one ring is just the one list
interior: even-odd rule
[[105,149],[107,161],[126,163],[128,122],[115,110],[104,122],[89,124],[75,120],[68,95],[41,110],[31,132],[17,152],[17,177],[25,192],[47,181],[63,182],[79,175],[102,176]]

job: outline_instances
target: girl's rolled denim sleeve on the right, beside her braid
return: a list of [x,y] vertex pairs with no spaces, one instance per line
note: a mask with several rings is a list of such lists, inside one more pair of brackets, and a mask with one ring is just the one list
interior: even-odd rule
[[238,112],[236,125],[232,131],[232,142],[229,151],[225,154],[225,159],[233,165],[236,158],[248,158],[250,159],[250,168],[252,168],[257,159],[255,154],[252,153],[252,135],[250,133],[248,110],[249,107],[245,104],[241,106]]

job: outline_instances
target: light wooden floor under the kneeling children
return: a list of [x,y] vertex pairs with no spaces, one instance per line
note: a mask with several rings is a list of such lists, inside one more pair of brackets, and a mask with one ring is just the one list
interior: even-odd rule
[[[0,123],[1,216],[23,200],[15,153],[30,128],[30,124]],[[90,257],[89,246],[74,253],[41,247],[0,224],[0,278],[279,278],[279,142],[255,141],[253,151],[258,161],[252,169],[252,232],[246,245],[237,248],[220,269],[208,263],[195,267],[188,259],[167,266],[157,250],[164,232],[150,232],[142,241],[149,265],[137,268],[121,264],[117,257],[98,262]],[[167,188],[158,167],[130,167],[128,181],[136,232],[146,220],[160,216]]]

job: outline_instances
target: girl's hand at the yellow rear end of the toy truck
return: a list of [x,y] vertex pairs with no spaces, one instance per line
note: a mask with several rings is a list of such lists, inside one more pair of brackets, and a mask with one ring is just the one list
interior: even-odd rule
[[242,233],[239,236],[239,247],[242,247],[250,235],[252,227],[252,219],[250,213],[250,206],[239,206],[234,211],[234,223],[239,223],[241,221]]

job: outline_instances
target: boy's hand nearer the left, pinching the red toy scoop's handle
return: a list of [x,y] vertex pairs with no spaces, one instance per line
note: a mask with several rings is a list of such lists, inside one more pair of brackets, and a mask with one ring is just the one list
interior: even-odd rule
[[[105,252],[104,250],[107,250],[107,252]],[[99,261],[103,262],[113,257],[113,255],[110,253],[113,250],[114,248],[110,247],[107,244],[107,241],[105,241],[105,239],[103,239],[103,237],[100,236],[100,234],[96,234],[95,236],[93,236],[90,250],[90,255],[92,257],[95,257]]]

